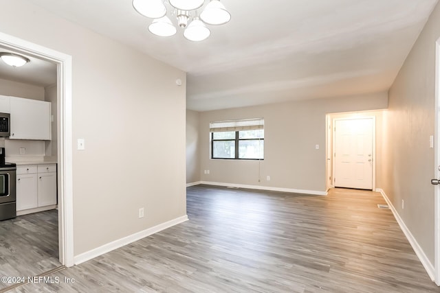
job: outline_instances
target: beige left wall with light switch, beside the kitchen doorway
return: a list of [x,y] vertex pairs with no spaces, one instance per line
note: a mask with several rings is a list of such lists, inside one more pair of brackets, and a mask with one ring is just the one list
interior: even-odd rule
[[72,56],[74,255],[186,215],[186,74],[28,1],[0,7],[3,33]]

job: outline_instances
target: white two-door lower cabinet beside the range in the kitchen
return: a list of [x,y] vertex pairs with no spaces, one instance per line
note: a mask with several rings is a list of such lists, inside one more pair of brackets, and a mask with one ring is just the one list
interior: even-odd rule
[[[17,166],[17,213],[54,209],[56,164]],[[26,210],[26,211],[25,211]]]

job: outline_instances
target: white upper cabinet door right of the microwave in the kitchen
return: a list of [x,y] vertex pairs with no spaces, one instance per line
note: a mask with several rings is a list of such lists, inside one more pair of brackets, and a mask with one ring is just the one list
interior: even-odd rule
[[10,97],[10,139],[51,139],[50,102]]

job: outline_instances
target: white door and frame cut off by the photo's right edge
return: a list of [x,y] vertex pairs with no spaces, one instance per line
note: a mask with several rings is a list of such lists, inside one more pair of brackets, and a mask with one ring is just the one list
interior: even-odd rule
[[[435,43],[434,178],[440,178],[440,38]],[[434,282],[440,286],[440,188],[434,188]]]

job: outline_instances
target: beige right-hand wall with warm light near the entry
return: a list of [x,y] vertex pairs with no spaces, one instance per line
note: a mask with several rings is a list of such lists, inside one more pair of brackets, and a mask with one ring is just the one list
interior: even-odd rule
[[[389,91],[384,123],[384,191],[423,253],[434,264],[435,43],[440,37],[437,4]],[[404,200],[404,209],[401,207]]]

